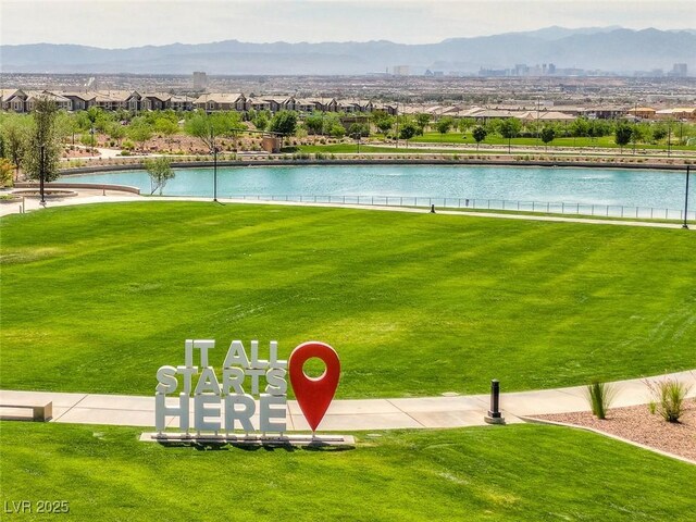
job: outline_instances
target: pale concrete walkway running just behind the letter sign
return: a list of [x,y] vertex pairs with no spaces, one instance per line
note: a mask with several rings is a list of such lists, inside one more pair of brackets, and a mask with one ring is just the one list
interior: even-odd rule
[[[669,377],[691,385],[689,397],[696,397],[696,370],[670,374]],[[656,381],[662,377],[648,377]],[[520,417],[544,413],[588,411],[585,387],[545,389],[538,391],[505,393],[500,407],[506,421],[523,422]],[[614,408],[647,403],[650,394],[646,380],[634,378],[614,383]],[[26,403],[27,401],[53,401],[51,422],[73,424],[111,424],[123,426],[154,426],[154,394],[151,397],[126,395],[62,394],[51,391],[0,390],[0,403]],[[174,405],[172,399],[172,406]],[[403,399],[334,400],[320,432],[391,428],[446,428],[484,425],[488,410],[487,395],[457,397],[422,397]],[[0,415],[17,415],[17,409],[0,408]],[[27,412],[30,414],[30,410]],[[192,419],[192,414],[191,414]],[[253,419],[258,425],[258,419]],[[171,418],[169,427],[176,427]],[[309,431],[309,426],[295,400],[288,400],[288,431]]]

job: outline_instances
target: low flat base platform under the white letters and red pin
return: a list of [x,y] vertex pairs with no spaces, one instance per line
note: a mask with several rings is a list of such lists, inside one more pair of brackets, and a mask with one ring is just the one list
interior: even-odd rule
[[353,447],[352,435],[253,435],[213,433],[144,433],[142,443],[160,444],[232,444],[239,446],[344,446]]

